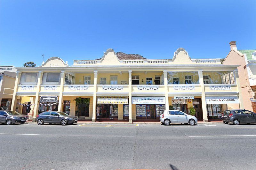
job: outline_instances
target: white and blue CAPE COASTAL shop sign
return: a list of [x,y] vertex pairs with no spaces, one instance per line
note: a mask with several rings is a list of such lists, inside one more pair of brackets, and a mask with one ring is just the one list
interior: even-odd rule
[[165,97],[132,97],[132,104],[165,104]]

